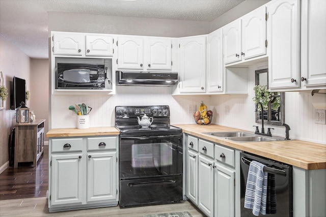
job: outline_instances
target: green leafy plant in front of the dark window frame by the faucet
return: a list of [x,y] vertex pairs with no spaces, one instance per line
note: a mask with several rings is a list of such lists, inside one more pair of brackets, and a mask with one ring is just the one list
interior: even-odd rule
[[[270,103],[271,109],[277,111],[281,105],[281,98],[278,97],[279,92],[269,92],[267,85],[256,85],[254,87],[255,97],[253,98],[255,105],[261,103],[265,111],[268,110],[268,104]],[[258,111],[260,111],[260,106],[258,106]]]

